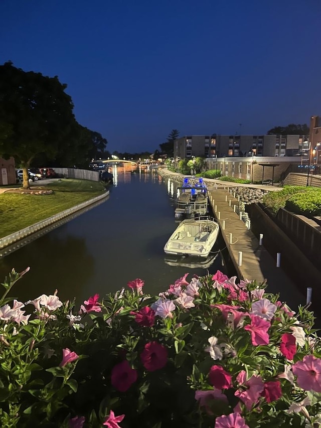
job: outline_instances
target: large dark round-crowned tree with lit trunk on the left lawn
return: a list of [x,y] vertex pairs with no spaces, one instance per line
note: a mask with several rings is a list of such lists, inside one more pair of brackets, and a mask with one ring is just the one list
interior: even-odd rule
[[12,62],[0,66],[0,154],[14,156],[24,170],[23,188],[29,188],[28,168],[36,155],[54,159],[65,146],[75,150],[78,123],[67,85],[58,77],[24,71]]

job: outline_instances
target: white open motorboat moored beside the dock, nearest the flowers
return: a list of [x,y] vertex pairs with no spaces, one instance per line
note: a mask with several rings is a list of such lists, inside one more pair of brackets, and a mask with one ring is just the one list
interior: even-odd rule
[[166,254],[207,257],[219,231],[219,224],[208,217],[183,220],[167,241],[164,251]]

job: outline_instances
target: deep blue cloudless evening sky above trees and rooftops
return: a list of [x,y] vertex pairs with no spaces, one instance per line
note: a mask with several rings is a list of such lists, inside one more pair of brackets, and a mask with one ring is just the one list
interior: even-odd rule
[[[0,63],[59,77],[111,152],[321,114],[320,0],[1,0]],[[241,123],[241,126],[240,126]]]

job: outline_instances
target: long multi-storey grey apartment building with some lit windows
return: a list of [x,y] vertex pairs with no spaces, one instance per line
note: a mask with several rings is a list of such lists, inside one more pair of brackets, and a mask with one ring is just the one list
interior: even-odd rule
[[[321,127],[319,130],[321,141]],[[308,138],[308,135],[185,135],[174,142],[174,159],[291,157],[308,149]],[[321,155],[321,144],[319,146]]]

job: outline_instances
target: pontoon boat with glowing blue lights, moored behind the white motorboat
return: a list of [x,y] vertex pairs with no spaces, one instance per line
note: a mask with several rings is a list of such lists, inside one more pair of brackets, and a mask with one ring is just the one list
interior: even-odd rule
[[192,218],[208,213],[207,187],[203,178],[185,177],[183,186],[178,187],[175,218]]

